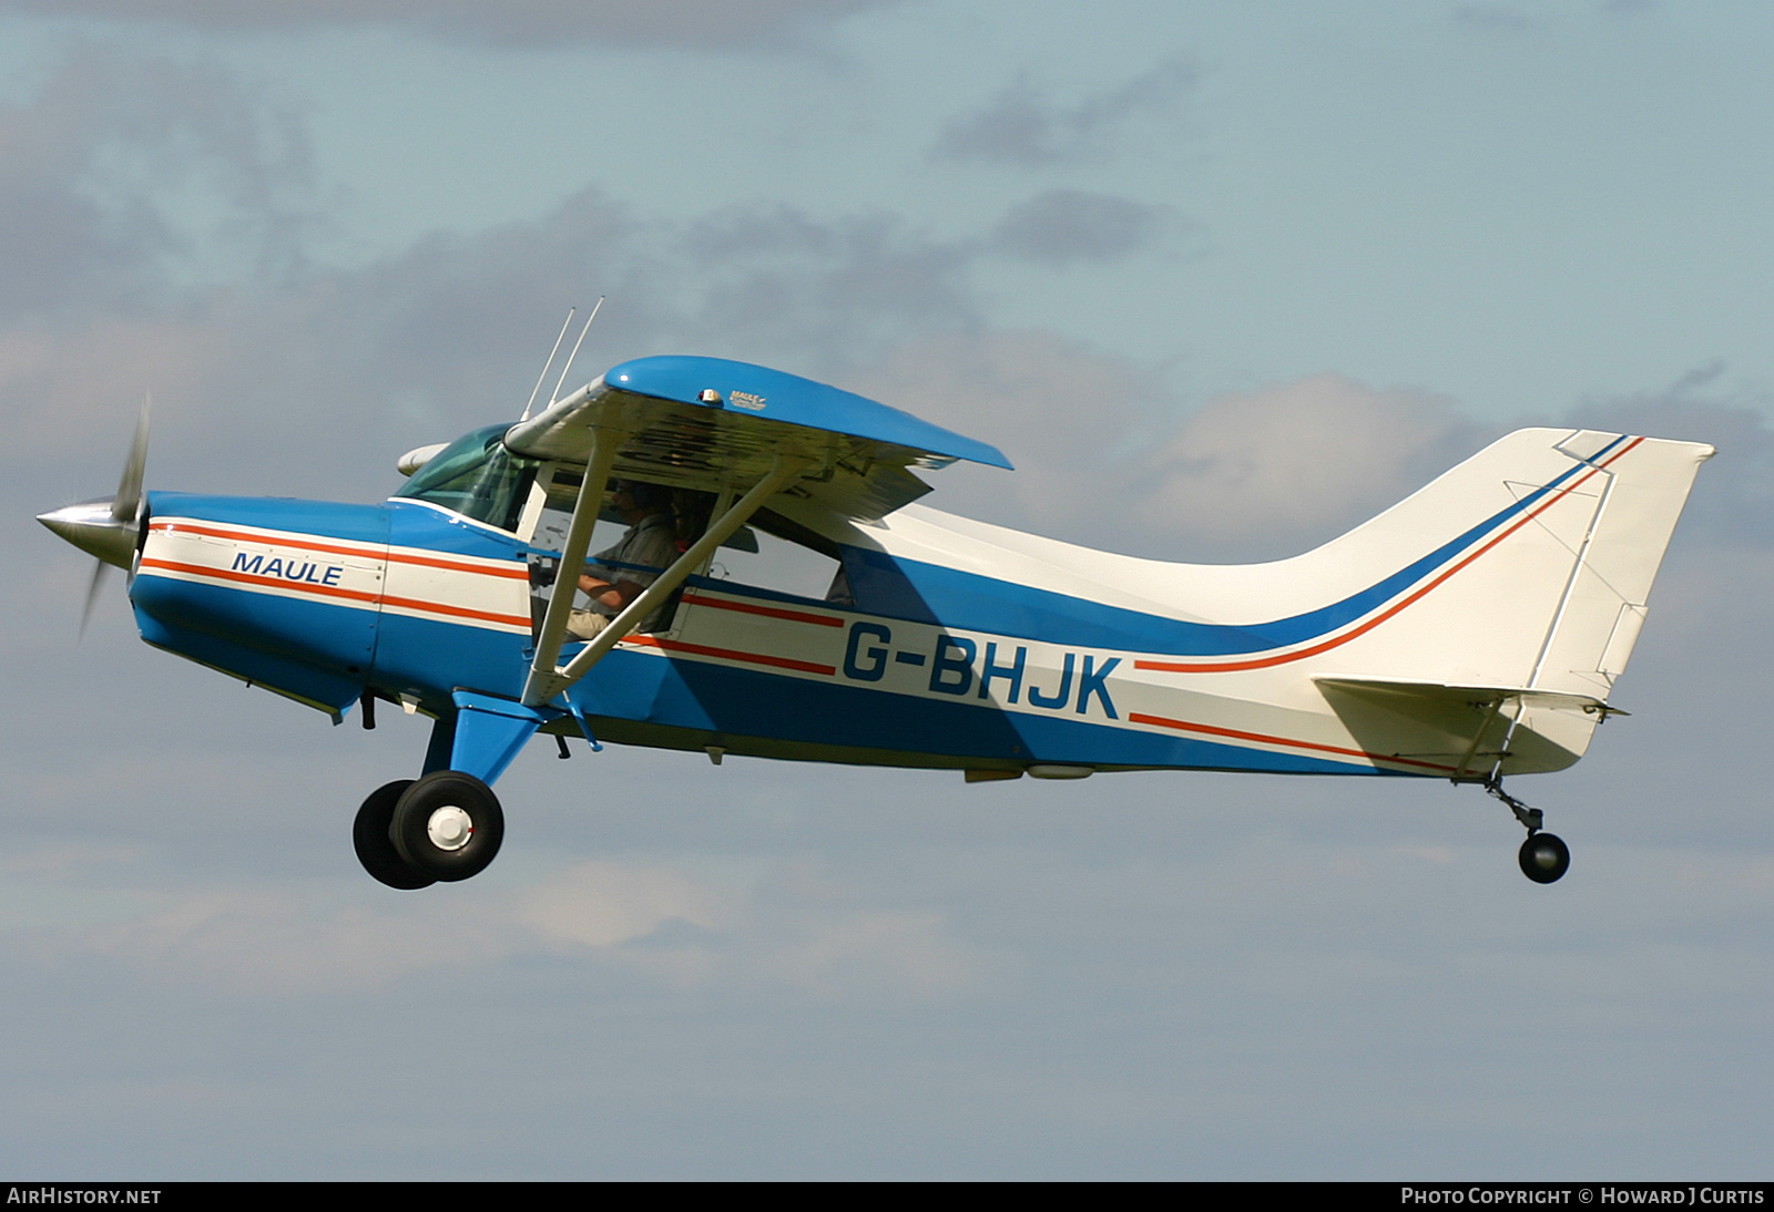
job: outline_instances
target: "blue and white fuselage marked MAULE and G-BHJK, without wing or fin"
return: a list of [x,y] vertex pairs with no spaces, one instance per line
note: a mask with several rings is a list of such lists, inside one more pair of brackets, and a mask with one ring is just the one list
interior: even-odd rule
[[[1320,679],[1384,673],[1412,627],[1433,638],[1433,602],[1398,602],[1471,562],[1510,510],[1373,576],[1311,556],[1137,560],[917,505],[867,526],[779,507],[836,555],[834,592],[692,578],[662,631],[630,636],[566,691],[600,739],[981,774],[1462,773],[1469,723],[1377,744]],[[534,512],[502,510],[507,528],[399,496],[177,493],[151,494],[149,510],[131,597],[156,647],[335,716],[365,691],[444,718],[456,691],[522,693],[539,569],[557,555],[538,546]],[[1385,611],[1382,643],[1373,620]],[[1403,649],[1425,652],[1423,636]],[[1540,769],[1570,760],[1554,753]]]

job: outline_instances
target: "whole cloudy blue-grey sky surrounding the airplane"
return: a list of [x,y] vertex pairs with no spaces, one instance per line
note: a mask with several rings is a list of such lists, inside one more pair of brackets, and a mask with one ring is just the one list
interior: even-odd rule
[[[1774,11],[0,0],[0,1171],[1767,1178]],[[1307,549],[1517,425],[1710,441],[1568,773],[986,783],[534,744],[396,893],[364,732],[34,514],[373,501],[575,369],[837,383],[940,509]],[[117,578],[119,581],[122,578]],[[394,716],[392,719],[389,716]]]

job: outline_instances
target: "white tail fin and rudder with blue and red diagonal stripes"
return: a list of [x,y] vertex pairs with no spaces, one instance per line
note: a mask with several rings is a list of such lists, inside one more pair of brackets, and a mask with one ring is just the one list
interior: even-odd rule
[[1495,441],[1286,562],[1302,579],[1336,581],[1440,542],[1368,590],[1387,604],[1315,659],[1315,680],[1352,728],[1382,705],[1394,723],[1446,714],[1455,700],[1483,714],[1462,776],[1570,765],[1627,668],[1669,535],[1712,454],[1595,431],[1524,429]]

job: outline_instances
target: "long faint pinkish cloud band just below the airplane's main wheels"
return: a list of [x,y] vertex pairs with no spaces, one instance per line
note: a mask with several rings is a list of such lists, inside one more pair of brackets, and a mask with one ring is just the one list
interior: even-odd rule
[[[142,859],[138,849],[98,843],[9,858],[5,948],[44,960],[108,960],[247,998],[383,989],[419,973],[545,955],[616,964],[679,987],[763,982],[821,1001],[883,989],[947,994],[972,985],[981,969],[944,914],[866,904],[844,882],[809,881],[797,868],[734,877],[692,874],[681,863],[591,859],[516,888],[477,881],[424,898],[365,898],[355,881],[344,897],[293,881],[131,886]],[[438,895],[454,898],[442,928]]]

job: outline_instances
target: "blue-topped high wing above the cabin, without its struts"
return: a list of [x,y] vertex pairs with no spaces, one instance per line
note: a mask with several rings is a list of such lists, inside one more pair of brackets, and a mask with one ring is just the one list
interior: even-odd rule
[[640,358],[506,434],[534,459],[589,462],[593,431],[624,434],[612,475],[703,491],[756,484],[779,457],[805,461],[800,491],[878,521],[930,491],[912,468],[967,459],[1009,470],[995,448],[823,383],[722,358]]

